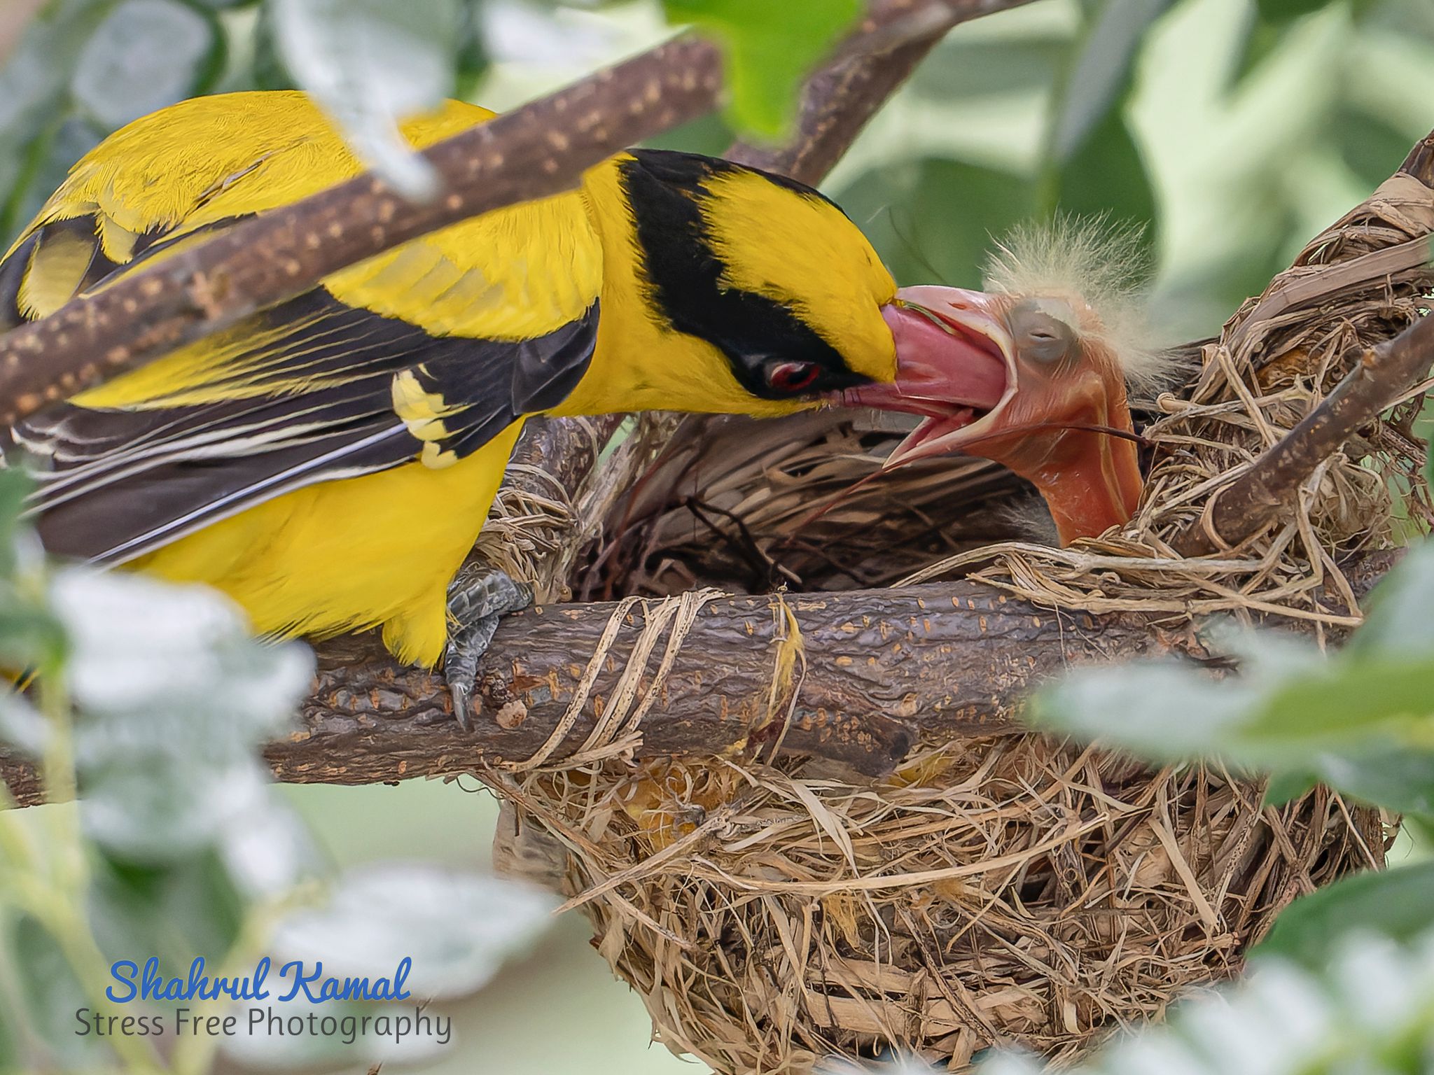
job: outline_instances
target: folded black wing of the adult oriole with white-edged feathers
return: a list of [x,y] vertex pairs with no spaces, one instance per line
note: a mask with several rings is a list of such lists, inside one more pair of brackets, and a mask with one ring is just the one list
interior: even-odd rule
[[[65,404],[11,439],[34,460],[46,548],[123,562],[293,489],[412,463],[426,446],[462,459],[565,398],[597,325],[594,302],[532,340],[435,337],[320,288],[221,337],[232,351],[205,401],[186,398],[189,384],[135,408]],[[440,400],[440,437],[416,436],[394,410],[394,381],[409,376]]]

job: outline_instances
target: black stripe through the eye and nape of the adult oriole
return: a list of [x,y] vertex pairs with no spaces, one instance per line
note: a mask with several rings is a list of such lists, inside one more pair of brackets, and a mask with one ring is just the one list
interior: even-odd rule
[[[721,285],[724,265],[713,252],[700,208],[708,196],[703,183],[740,168],[730,161],[665,149],[632,150],[632,159],[622,165],[622,186],[658,311],[677,331],[720,348],[733,374],[754,396],[790,397],[773,390],[763,376],[764,364],[773,358],[815,363],[822,374],[812,383],[812,391],[868,380],[849,370],[842,354],[782,302]],[[792,179],[766,178],[794,194],[822,198]]]

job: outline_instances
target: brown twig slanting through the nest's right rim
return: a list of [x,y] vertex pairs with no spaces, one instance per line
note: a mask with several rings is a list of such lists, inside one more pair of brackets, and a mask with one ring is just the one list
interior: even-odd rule
[[1368,426],[1434,366],[1434,317],[1368,351],[1278,444],[1217,490],[1206,513],[1176,539],[1184,556],[1229,549],[1275,522],[1315,467]]

